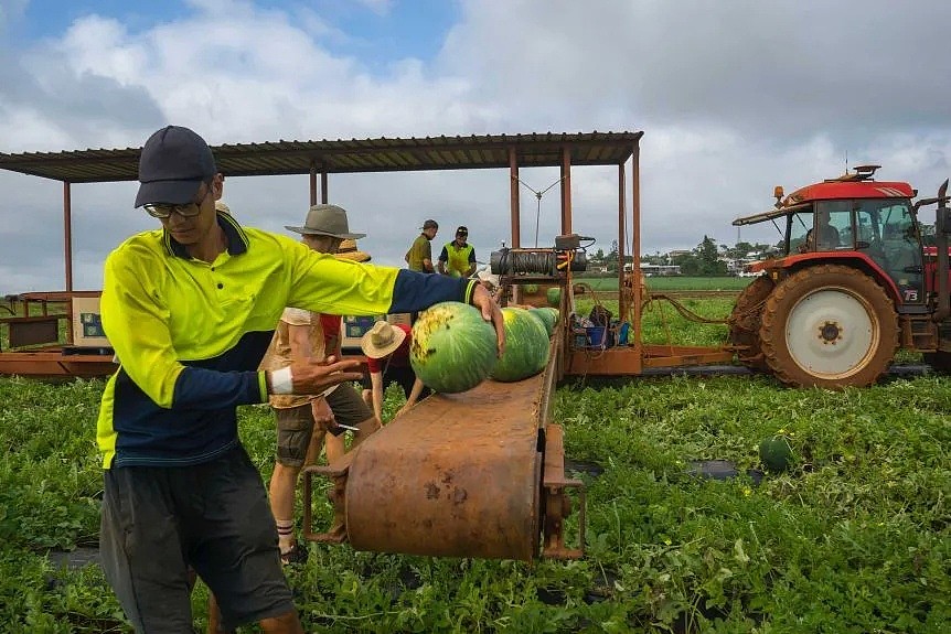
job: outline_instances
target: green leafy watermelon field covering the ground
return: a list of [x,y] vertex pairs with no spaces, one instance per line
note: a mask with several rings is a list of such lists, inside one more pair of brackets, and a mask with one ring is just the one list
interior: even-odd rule
[[[715,318],[733,302],[683,303]],[[647,341],[716,345],[725,335],[661,304],[645,312]],[[2,632],[131,632],[95,563],[101,390],[98,380],[0,379]],[[385,418],[400,400],[391,388]],[[901,373],[842,393],[762,375],[567,383],[555,419],[569,475],[587,484],[585,559],[528,565],[311,544],[308,562],[288,570],[306,631],[951,628],[951,377]],[[242,408],[239,428],[268,479],[271,412]],[[773,437],[791,450],[786,471],[760,459]],[[317,499],[329,519],[329,503]],[[206,597],[200,584],[200,628]]]

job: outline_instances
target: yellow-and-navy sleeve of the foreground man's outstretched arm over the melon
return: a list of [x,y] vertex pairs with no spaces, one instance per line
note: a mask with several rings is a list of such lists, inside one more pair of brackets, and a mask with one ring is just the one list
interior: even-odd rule
[[290,307],[336,315],[406,313],[445,301],[470,303],[476,290],[473,280],[341,260],[287,241]]

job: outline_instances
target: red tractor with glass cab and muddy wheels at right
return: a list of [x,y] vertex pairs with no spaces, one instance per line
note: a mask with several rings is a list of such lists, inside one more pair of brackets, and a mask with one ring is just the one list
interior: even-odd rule
[[[745,364],[793,386],[866,386],[896,351],[925,353],[951,370],[948,181],[934,198],[912,202],[908,183],[875,181],[879,165],[797,190],[762,214],[781,255],[750,265],[761,272],[740,294],[730,344]],[[938,205],[937,222],[918,211]]]

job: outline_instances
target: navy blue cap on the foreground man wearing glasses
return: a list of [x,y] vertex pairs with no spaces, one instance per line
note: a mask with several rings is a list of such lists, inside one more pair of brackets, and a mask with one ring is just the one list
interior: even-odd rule
[[194,200],[202,181],[217,168],[212,149],[189,128],[168,126],[146,141],[139,155],[139,193],[136,206],[164,203],[184,205]]

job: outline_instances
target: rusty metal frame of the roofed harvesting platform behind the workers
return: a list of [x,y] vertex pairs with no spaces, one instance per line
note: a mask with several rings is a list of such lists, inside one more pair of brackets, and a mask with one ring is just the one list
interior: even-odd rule
[[[421,170],[506,169],[510,180],[511,247],[521,245],[520,170],[558,168],[560,171],[560,234],[574,232],[571,207],[573,168],[579,165],[616,165],[618,170],[618,314],[630,324],[627,346],[616,346],[598,354],[579,350],[573,337],[564,337],[565,354],[558,378],[565,375],[637,376],[647,368],[677,367],[709,363],[729,363],[728,347],[649,345],[641,340],[641,311],[645,294],[640,272],[640,139],[643,132],[482,135],[470,137],[426,137],[397,139],[351,139],[321,141],[278,141],[222,144],[213,147],[220,170],[227,178],[250,175],[308,174],[310,203],[329,202],[329,176],[340,173],[397,172]],[[67,345],[49,336],[52,320],[74,318],[72,299],[95,291],[73,288],[72,196],[73,185],[81,183],[135,181],[140,148],[82,150],[63,152],[0,153],[0,169],[56,180],[63,184],[63,261],[65,291],[24,293],[11,298],[17,314],[3,316],[8,327],[29,329],[31,301],[65,301],[65,311],[43,313],[45,330],[38,333],[30,350],[0,351],[0,375],[23,376],[101,376],[116,366],[108,350],[76,346],[71,329]],[[318,186],[319,181],[319,186]],[[629,211],[628,211],[629,209]],[[631,252],[627,254],[630,232]],[[630,257],[632,270],[626,276]],[[562,283],[569,283],[570,272]],[[525,280],[521,280],[525,281]],[[570,286],[566,288],[570,289]],[[563,293],[567,297],[567,293]],[[563,300],[565,301],[565,300]],[[43,303],[45,311],[45,303]],[[565,304],[563,303],[563,309]],[[22,310],[19,310],[22,309]],[[12,309],[11,309],[12,310]],[[568,319],[562,311],[563,325]],[[38,326],[39,327],[39,326]],[[43,333],[46,341],[43,341]],[[42,345],[40,345],[42,344]],[[40,345],[40,347],[36,347]]]

